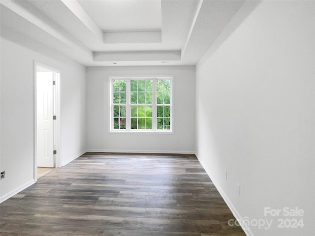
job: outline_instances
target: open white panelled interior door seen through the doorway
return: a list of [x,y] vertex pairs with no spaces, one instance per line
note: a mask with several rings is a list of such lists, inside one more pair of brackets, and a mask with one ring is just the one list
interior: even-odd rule
[[53,72],[37,67],[37,166],[55,167]]

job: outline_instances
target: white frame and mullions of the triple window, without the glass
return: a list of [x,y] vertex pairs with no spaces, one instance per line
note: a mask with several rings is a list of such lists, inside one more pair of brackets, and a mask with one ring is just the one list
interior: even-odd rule
[[[110,133],[174,133],[174,76],[163,75],[163,76],[109,76],[109,132]],[[130,128],[130,81],[131,80],[153,80],[153,104],[152,104],[152,129],[131,129]],[[122,105],[113,103],[113,81],[114,80],[126,80],[126,129],[114,129],[114,114],[113,106]],[[156,81],[157,80],[170,80],[170,129],[157,129],[157,96],[156,96]],[[162,104],[161,104],[162,105]],[[168,105],[168,104],[165,104]]]

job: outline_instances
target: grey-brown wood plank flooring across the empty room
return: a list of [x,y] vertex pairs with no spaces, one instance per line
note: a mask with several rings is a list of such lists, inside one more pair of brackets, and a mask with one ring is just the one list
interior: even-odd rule
[[244,236],[192,155],[85,153],[0,205],[1,236]]

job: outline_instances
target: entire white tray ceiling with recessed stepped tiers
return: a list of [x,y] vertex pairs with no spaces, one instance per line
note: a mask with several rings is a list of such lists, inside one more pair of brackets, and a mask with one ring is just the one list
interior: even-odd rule
[[[1,36],[86,66],[194,65],[243,0],[1,0]],[[26,40],[27,38],[32,40]],[[30,45],[31,46],[31,45]]]

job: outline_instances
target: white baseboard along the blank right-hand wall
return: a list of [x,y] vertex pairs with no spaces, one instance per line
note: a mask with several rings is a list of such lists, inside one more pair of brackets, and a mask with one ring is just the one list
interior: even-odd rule
[[[195,154],[198,158],[197,153]],[[226,203],[226,205],[230,208],[230,210],[232,211],[232,214],[234,215],[234,217],[236,219],[242,219],[242,216],[240,215],[240,213],[236,210],[236,208],[234,207],[234,205],[231,203],[231,201],[229,200],[229,198],[225,195],[225,193],[223,192],[220,184],[217,182],[217,180],[215,179],[215,177],[213,177],[211,175],[211,172],[208,170],[208,168],[206,167],[206,165],[198,158],[200,164],[202,165],[202,167],[205,169],[205,171],[207,172],[208,176],[211,178],[213,184],[216,186],[216,188],[218,189],[221,197],[223,198],[224,202]],[[244,227],[243,225],[241,225],[243,231],[245,232],[245,234],[247,236],[254,236],[252,231],[248,228],[248,227]]]

